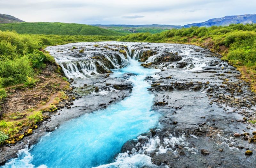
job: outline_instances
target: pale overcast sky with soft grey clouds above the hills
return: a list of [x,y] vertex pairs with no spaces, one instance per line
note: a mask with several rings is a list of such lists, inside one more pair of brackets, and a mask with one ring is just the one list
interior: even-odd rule
[[185,25],[256,13],[255,0],[0,0],[0,13],[27,22]]

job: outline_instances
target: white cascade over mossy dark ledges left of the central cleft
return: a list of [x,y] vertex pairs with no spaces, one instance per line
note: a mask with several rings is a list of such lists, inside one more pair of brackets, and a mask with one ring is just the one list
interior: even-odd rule
[[[79,47],[76,51],[70,49],[72,48],[70,44],[59,46],[60,48],[69,48],[63,52],[56,52],[60,51],[56,46],[48,47],[47,50],[55,57],[65,76],[69,78],[90,77],[94,74],[109,72],[110,69],[120,69],[128,66],[132,54],[131,47],[122,45],[106,47],[102,45],[102,48],[97,47],[95,49],[94,46],[93,43],[81,44],[79,47],[83,48],[83,53],[79,52]],[[121,49],[125,51],[126,55],[120,51]]]

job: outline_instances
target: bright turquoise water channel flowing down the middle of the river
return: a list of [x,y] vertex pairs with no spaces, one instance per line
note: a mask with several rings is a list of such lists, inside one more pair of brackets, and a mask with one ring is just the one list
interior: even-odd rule
[[29,151],[21,150],[18,158],[3,167],[89,168],[114,162],[127,140],[157,124],[159,116],[150,110],[154,96],[147,91],[149,84],[143,81],[156,71],[144,69],[130,59],[129,66],[112,74],[112,77],[121,77],[126,72],[136,74],[129,79],[134,86],[130,97],[66,122]]

